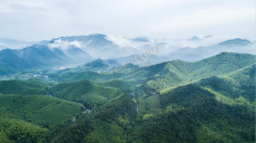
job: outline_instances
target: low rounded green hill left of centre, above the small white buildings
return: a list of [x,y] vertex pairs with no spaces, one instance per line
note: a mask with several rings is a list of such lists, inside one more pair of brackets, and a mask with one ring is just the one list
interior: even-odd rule
[[59,83],[49,89],[49,93],[60,99],[83,102],[90,106],[106,103],[120,94],[120,90],[112,87],[95,85],[88,80]]

